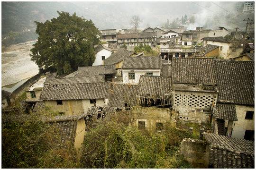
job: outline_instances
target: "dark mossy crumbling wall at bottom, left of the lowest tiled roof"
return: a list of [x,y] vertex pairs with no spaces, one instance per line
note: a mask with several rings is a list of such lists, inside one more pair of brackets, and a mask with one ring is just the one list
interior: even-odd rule
[[192,164],[193,168],[208,168],[209,165],[209,145],[202,140],[183,139],[181,144],[181,154],[184,159]]

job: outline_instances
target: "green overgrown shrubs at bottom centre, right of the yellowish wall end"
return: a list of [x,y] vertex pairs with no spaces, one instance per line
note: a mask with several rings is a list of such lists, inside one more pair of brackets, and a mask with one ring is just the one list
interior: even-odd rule
[[189,168],[178,154],[188,131],[167,125],[165,131],[143,135],[136,127],[101,124],[85,136],[82,168]]

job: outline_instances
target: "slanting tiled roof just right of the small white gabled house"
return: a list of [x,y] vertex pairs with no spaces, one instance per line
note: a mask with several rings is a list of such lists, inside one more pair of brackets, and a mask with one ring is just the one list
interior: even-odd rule
[[124,57],[129,57],[131,54],[133,54],[132,51],[128,51],[124,48],[120,48],[119,51],[113,53],[108,57],[107,59],[104,60],[105,65],[110,65],[110,64],[116,64],[119,63],[124,59]]

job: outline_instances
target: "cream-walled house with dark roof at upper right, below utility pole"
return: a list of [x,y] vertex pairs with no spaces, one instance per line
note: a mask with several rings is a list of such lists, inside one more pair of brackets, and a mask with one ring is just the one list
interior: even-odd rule
[[239,56],[243,51],[250,49],[244,40],[226,40],[224,37],[205,37],[202,38],[203,47],[208,44],[219,46],[219,57],[231,59]]

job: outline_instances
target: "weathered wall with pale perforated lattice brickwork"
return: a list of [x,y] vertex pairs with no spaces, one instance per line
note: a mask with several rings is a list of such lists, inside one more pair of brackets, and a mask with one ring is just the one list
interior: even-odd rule
[[173,109],[182,120],[207,123],[210,108],[215,107],[216,102],[217,93],[174,91]]

